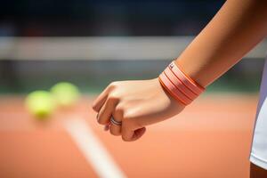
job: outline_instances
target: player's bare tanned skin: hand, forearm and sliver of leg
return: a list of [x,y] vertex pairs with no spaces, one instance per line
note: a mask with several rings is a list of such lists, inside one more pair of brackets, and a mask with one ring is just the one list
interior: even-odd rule
[[[231,69],[266,34],[266,0],[229,0],[175,64],[206,87]],[[106,125],[110,134],[121,136],[125,142],[141,138],[146,125],[177,115],[184,108],[165,91],[158,78],[113,82],[93,102],[98,123]],[[122,125],[110,124],[111,116]],[[251,177],[263,177],[256,174],[259,170],[266,174],[255,165],[251,167]]]

